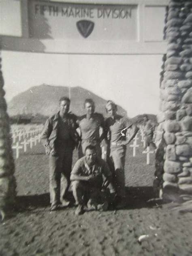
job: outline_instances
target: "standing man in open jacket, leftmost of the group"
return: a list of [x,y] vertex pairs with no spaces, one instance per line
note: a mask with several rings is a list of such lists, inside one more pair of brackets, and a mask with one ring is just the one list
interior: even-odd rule
[[49,191],[51,211],[61,202],[67,206],[66,193],[70,185],[73,149],[77,142],[77,118],[68,113],[70,99],[60,98],[59,112],[49,117],[45,123],[42,141],[49,155]]

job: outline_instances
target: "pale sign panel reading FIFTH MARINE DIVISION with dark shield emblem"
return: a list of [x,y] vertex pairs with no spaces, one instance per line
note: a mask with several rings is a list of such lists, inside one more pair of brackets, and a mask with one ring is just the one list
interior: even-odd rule
[[137,41],[137,6],[29,1],[34,38]]

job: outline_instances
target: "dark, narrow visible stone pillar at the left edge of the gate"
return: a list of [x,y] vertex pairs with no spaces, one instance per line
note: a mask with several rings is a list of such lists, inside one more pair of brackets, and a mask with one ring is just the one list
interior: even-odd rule
[[4,99],[3,85],[0,55],[0,213],[2,219],[5,212],[15,204],[16,196],[15,165],[11,149],[9,116],[6,112],[7,106]]

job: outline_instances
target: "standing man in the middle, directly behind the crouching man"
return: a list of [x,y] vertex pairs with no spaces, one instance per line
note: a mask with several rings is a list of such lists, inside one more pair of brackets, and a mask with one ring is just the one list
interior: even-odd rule
[[[79,145],[79,158],[85,155],[85,148],[88,145],[96,147],[97,156],[101,157],[100,143],[104,139],[104,117],[95,113],[95,103],[92,99],[84,102],[86,114],[79,118],[81,133],[81,145]],[[101,132],[100,132],[101,131]]]

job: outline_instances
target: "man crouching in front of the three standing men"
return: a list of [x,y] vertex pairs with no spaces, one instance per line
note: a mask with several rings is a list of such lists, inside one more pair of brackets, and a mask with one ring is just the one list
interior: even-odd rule
[[[102,197],[102,191],[105,191],[111,183],[111,172],[107,163],[96,156],[96,148],[93,145],[88,145],[85,148],[85,156],[76,162],[70,180],[72,181],[73,196],[78,205],[75,211],[76,215],[84,212],[86,197],[88,208],[107,209],[108,204]],[[103,204],[100,204],[101,202]]]

